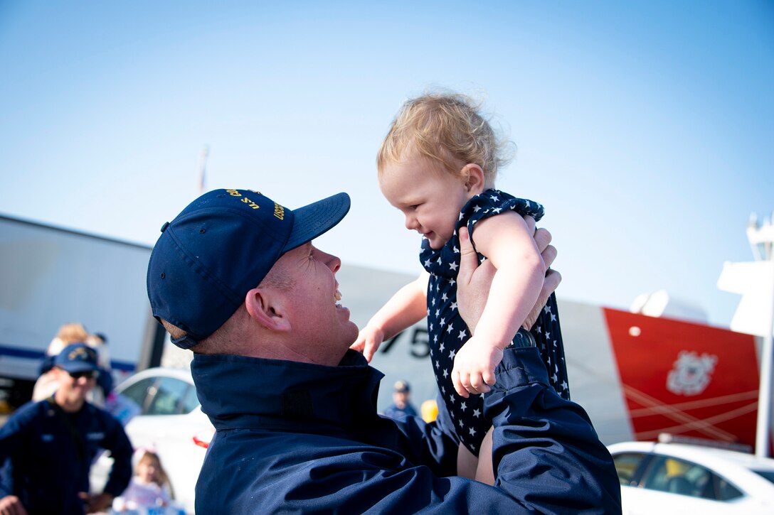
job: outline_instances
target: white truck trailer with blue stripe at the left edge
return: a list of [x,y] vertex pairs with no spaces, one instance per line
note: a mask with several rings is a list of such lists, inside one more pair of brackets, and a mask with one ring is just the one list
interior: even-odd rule
[[29,400],[59,327],[108,337],[116,380],[159,363],[146,294],[151,247],[0,215],[0,411]]

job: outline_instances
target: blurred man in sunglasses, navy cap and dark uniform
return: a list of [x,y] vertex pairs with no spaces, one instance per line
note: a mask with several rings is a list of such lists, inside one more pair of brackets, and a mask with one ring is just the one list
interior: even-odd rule
[[[97,513],[132,477],[132,444],[107,411],[86,401],[97,383],[97,352],[66,346],[53,363],[57,391],[28,402],[0,428],[0,513]],[[102,493],[91,494],[89,469],[106,449],[114,460]]]

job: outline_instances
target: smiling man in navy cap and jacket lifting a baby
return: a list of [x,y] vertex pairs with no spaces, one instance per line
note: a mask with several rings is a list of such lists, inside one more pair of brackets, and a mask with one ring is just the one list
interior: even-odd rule
[[[197,513],[620,512],[607,449],[584,410],[548,386],[535,347],[505,350],[485,397],[496,486],[455,476],[457,442],[437,427],[453,421],[378,415],[383,374],[349,348],[358,327],[339,302],[341,261],[312,244],[349,206],[345,193],[291,210],[218,189],[162,227],[148,267],[152,312],[194,351],[201,408],[217,430]],[[379,243],[360,238],[365,252]],[[550,235],[536,240],[547,266]],[[461,251],[460,309],[474,328],[491,271],[469,240]],[[543,302],[557,284],[546,280]]]

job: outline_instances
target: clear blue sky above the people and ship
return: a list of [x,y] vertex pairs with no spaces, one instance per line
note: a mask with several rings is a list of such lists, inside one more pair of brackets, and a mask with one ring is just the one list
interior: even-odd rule
[[347,191],[320,247],[418,272],[374,161],[434,86],[482,94],[518,145],[498,187],[546,206],[560,298],[666,288],[728,325],[717,277],[774,210],[772,2],[4,0],[0,77],[0,213],[145,244],[209,145],[207,189]]

